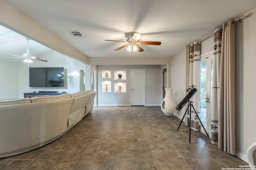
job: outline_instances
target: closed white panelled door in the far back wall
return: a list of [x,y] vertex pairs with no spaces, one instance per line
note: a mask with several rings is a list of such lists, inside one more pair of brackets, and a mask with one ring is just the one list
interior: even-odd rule
[[145,69],[130,70],[131,105],[145,106]]

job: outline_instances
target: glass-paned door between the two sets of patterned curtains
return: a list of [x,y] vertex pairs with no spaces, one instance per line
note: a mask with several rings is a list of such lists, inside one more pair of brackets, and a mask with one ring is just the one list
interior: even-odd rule
[[[208,135],[211,133],[211,108],[212,108],[212,54],[201,57],[200,61],[200,114]],[[202,133],[204,132],[201,126]]]

